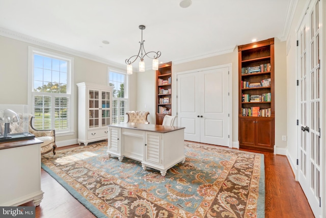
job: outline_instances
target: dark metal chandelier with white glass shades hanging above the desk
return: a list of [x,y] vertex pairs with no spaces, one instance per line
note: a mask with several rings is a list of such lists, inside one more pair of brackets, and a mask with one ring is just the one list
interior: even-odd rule
[[[140,41],[139,43],[141,43],[141,47],[139,48],[139,52],[138,55],[134,55],[131,56],[129,59],[126,59],[126,64],[127,64],[127,74],[132,74],[132,63],[135,62],[135,60],[137,60],[138,58],[141,59],[141,61],[139,62],[139,71],[140,72],[144,72],[145,71],[145,62],[144,62],[144,58],[145,56],[147,56],[148,58],[153,59],[153,64],[152,64],[152,69],[153,70],[157,70],[158,69],[158,59],[159,56],[161,56],[161,52],[145,52],[145,48],[144,48],[144,42],[145,40],[143,40],[143,30],[145,30],[145,26],[144,25],[140,25],[139,29],[142,30],[142,41]],[[151,54],[154,53],[154,54]],[[149,55],[152,55],[152,57],[150,57]]]

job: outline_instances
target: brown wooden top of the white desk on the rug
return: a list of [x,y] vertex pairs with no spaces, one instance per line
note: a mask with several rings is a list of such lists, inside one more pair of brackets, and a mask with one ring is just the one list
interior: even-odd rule
[[139,124],[139,123],[126,123],[126,124],[112,124],[107,125],[108,127],[118,127],[124,129],[143,130],[149,132],[167,133],[176,130],[185,129],[185,127],[171,127],[154,124]]

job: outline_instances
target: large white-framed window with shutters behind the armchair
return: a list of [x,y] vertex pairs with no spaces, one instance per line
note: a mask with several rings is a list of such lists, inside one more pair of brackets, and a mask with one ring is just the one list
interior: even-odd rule
[[73,134],[73,58],[29,47],[29,105],[34,127]]

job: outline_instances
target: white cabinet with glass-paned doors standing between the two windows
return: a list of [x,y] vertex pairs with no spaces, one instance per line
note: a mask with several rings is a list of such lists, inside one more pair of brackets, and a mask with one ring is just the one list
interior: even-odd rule
[[112,123],[111,86],[77,83],[78,144],[107,139],[107,125]]

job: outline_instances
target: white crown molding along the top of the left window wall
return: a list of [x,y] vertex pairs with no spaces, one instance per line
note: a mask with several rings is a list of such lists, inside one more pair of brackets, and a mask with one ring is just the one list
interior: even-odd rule
[[96,61],[96,62],[104,63],[104,64],[107,64],[107,65],[110,65],[110,66],[114,66],[114,67],[118,67],[118,68],[122,68],[122,69],[125,68],[124,64],[119,64],[117,62],[109,61],[109,60],[106,60],[104,58],[100,58],[100,57],[90,55],[90,54],[87,54],[87,53],[84,53],[84,52],[73,50],[73,49],[70,49],[69,47],[61,46],[61,45],[58,45],[58,44],[55,44],[55,43],[44,41],[44,40],[41,40],[41,39],[38,39],[38,38],[34,38],[32,36],[17,33],[17,32],[14,32],[14,31],[11,31],[11,30],[8,30],[8,29],[4,29],[4,28],[1,28],[1,27],[0,27],[0,35],[8,37],[8,38],[16,39],[16,40],[19,40],[19,41],[39,45],[39,46],[42,46],[42,47],[46,47],[47,49],[52,49],[52,50],[67,53],[67,54],[70,54],[70,55],[75,55],[75,56],[78,56],[78,57],[93,60],[93,61]]

